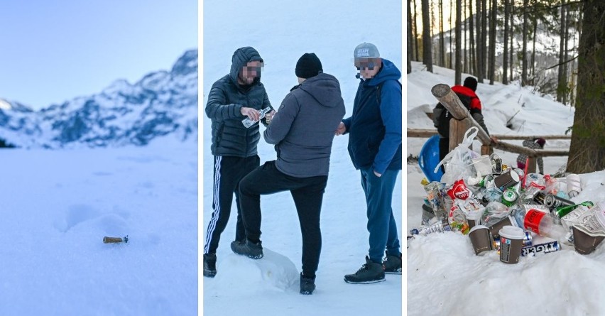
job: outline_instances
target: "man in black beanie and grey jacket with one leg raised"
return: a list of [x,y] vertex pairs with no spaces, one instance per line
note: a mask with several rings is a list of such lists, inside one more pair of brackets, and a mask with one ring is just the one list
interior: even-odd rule
[[261,195],[289,190],[302,231],[300,293],[305,295],[315,290],[322,246],[322,198],[334,132],[345,113],[338,80],[322,72],[314,53],[305,53],[296,63],[299,85],[285,96],[264,132],[265,141],[275,144],[277,160],[266,162],[241,180],[246,241],[231,243],[236,254],[262,258]]

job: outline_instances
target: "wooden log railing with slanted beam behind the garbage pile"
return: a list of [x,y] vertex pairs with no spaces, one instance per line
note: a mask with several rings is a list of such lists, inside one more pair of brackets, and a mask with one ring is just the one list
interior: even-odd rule
[[[452,120],[449,121],[449,151],[456,148],[459,143],[462,143],[464,133],[472,126],[479,129],[477,137],[481,143],[481,155],[489,155],[493,153],[494,148],[511,153],[523,153],[529,158],[528,173],[535,172],[535,160],[538,157],[546,156],[569,156],[569,150],[544,150],[532,149],[523,146],[505,143],[503,140],[525,140],[531,138],[542,137],[545,139],[571,139],[572,136],[567,135],[536,135],[536,136],[511,136],[511,135],[492,135],[498,139],[497,143],[491,141],[486,131],[473,119],[464,104],[460,102],[458,96],[452,91],[449,85],[439,84],[432,87],[431,93],[445,109],[452,114]],[[436,129],[408,129],[408,137],[428,138],[437,134]]]

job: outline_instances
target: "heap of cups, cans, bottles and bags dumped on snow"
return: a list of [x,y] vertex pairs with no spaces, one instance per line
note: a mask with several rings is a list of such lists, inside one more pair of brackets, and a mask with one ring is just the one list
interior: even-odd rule
[[469,149],[473,129],[440,162],[441,181],[423,179],[423,226],[410,231],[408,242],[419,234],[459,232],[469,235],[476,255],[495,250],[505,263],[553,253],[563,244],[590,254],[601,244],[605,201],[574,202],[582,191],[579,175],[527,173],[496,154],[481,156]]

